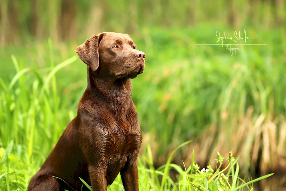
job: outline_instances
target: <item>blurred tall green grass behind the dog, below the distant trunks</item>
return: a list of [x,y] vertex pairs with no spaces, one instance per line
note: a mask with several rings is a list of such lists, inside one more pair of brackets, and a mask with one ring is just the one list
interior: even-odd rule
[[[153,28],[133,37],[147,55],[146,70],[132,80],[142,147],[149,141],[154,163],[161,165],[176,145],[194,139],[172,162],[189,165],[195,148],[195,160],[204,164],[218,147],[223,155],[241,153],[245,171],[283,171],[285,29],[249,29],[249,44],[268,45],[241,46],[234,56],[220,46],[196,45],[214,42],[219,29]],[[28,165],[43,162],[76,115],[86,66],[74,50],[83,41],[53,46],[48,40],[0,51],[1,145],[14,139]],[[33,158],[34,153],[43,155]]]

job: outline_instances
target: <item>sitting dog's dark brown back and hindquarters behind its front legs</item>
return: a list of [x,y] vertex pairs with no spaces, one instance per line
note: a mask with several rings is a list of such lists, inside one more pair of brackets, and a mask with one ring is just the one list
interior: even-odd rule
[[90,184],[88,164],[79,145],[78,128],[76,117],[69,123],[39,172],[31,178],[28,191],[69,190],[69,186],[79,190],[82,186],[79,177]]

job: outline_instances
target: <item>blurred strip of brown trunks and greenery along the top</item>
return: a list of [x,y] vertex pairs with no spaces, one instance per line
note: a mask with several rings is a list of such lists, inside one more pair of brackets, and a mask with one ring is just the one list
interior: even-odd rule
[[[145,27],[216,23],[235,28],[285,26],[283,0],[1,0],[0,46],[71,40],[100,31],[138,34]],[[124,11],[123,11],[124,10]]]

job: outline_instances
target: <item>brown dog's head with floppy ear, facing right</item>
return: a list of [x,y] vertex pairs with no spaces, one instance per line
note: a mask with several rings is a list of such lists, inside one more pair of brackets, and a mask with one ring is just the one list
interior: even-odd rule
[[145,53],[136,49],[127,34],[106,32],[93,35],[76,49],[78,57],[93,71],[115,78],[135,78],[145,67]]

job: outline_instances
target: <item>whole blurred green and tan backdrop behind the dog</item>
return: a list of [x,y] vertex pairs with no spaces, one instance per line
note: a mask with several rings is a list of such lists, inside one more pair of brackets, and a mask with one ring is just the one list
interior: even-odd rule
[[[14,168],[25,185],[39,170],[86,88],[76,47],[104,31],[130,34],[146,53],[132,98],[155,166],[193,139],[172,162],[190,165],[194,149],[204,166],[217,149],[240,154],[243,174],[285,174],[285,11],[284,0],[0,0],[1,157],[14,140],[1,174]],[[219,44],[220,30],[267,45],[239,45],[233,56],[197,45]]]

